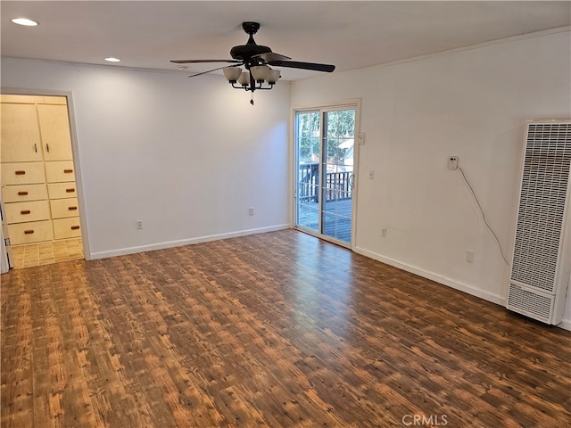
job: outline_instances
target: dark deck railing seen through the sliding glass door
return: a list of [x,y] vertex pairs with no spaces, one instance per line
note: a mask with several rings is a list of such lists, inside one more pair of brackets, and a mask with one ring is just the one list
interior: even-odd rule
[[[327,172],[325,182],[326,202],[351,199],[352,180],[352,171]],[[300,202],[318,202],[319,163],[300,164],[297,187],[297,197]]]

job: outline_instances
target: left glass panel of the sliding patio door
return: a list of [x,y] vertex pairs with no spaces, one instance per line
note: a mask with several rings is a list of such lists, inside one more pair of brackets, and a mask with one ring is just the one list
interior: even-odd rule
[[319,232],[319,111],[295,115],[297,225]]

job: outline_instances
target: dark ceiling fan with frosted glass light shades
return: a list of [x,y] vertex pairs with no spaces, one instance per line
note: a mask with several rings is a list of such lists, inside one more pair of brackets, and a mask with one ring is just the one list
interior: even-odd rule
[[[319,64],[316,62],[290,61],[290,57],[279,53],[273,53],[268,46],[256,44],[253,39],[253,35],[258,32],[258,29],[260,29],[260,24],[258,22],[243,22],[242,28],[249,36],[248,41],[245,45],[237,45],[230,49],[230,56],[233,58],[232,60],[171,60],[170,62],[174,62],[176,64],[199,62],[227,62],[233,64],[230,66],[227,65],[203,71],[202,73],[189,76],[189,78],[194,78],[194,76],[200,76],[202,74],[210,73],[211,71],[223,69],[224,76],[228,79],[228,82],[232,87],[252,91],[252,100],[250,101],[252,104],[253,92],[256,89],[271,89],[279,78],[280,71],[270,69],[270,65],[291,69],[325,71],[327,73],[335,70],[335,65]],[[242,70],[240,68],[241,66],[244,66],[244,69],[247,71]],[[269,86],[263,86],[264,83]]]

